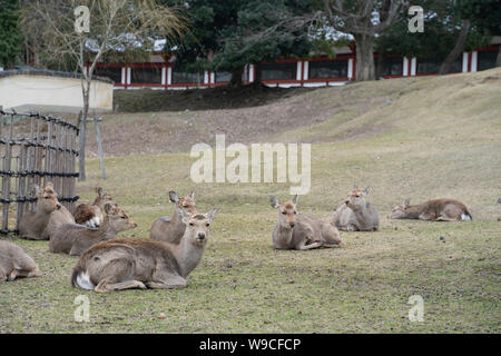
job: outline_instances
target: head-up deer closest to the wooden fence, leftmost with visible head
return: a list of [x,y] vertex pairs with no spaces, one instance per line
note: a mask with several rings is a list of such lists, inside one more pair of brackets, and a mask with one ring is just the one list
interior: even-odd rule
[[40,190],[38,185],[33,186],[37,196],[36,211],[26,211],[19,221],[19,235],[29,240],[43,240],[45,230],[53,211],[62,208],[58,195],[51,182]]

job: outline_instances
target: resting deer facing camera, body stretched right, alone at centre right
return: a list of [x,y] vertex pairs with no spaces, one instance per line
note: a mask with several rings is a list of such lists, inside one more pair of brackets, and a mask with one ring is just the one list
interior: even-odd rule
[[306,250],[343,245],[340,231],[333,224],[297,212],[297,195],[284,202],[269,196],[269,202],[278,209],[278,220],[273,230],[275,249]]

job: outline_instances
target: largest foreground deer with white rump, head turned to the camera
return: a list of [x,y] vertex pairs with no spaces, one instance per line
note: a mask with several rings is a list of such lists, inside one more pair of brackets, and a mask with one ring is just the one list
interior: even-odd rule
[[90,247],[71,275],[76,288],[107,293],[130,288],[180,289],[200,263],[216,208],[190,214],[180,208],[186,225],[178,245],[149,238],[117,238]]

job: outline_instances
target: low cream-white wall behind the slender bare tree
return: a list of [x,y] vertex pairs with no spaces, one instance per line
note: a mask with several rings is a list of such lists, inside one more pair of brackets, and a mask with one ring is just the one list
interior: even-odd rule
[[[90,111],[111,111],[112,83],[95,80],[90,89]],[[79,112],[82,108],[78,78],[19,75],[0,78],[0,106],[17,111]]]

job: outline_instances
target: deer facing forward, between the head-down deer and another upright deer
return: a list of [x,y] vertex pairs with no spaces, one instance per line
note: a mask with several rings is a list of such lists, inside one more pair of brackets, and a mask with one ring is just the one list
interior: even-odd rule
[[372,190],[371,187],[358,189],[353,186],[347,199],[338,207],[333,216],[332,222],[343,231],[375,231],[380,227],[377,210],[367,201],[365,196]]

